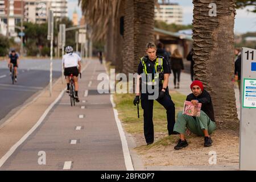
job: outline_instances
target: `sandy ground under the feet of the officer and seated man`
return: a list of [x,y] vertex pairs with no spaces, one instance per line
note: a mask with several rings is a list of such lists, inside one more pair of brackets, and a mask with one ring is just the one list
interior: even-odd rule
[[[175,143],[167,146],[161,144],[147,147],[143,134],[133,135],[139,154],[145,166],[207,166],[209,165],[209,152],[217,154],[217,165],[233,166],[239,164],[239,132],[218,129],[211,135],[213,145],[204,147],[204,138],[194,134],[189,135],[189,145],[181,150],[174,150],[179,135],[172,137]],[[172,135],[173,136],[173,135]],[[167,134],[155,133],[155,142]]]

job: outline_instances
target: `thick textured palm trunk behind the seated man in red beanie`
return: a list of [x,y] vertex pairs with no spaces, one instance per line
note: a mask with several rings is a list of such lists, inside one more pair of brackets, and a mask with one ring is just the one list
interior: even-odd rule
[[[217,16],[209,16],[210,3]],[[234,74],[234,16],[236,0],[193,0],[193,59],[195,77],[213,101],[217,122],[238,122]]]

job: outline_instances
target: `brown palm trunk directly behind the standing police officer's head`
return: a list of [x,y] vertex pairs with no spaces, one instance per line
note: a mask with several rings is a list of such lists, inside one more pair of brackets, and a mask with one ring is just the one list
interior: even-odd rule
[[139,58],[154,41],[154,0],[125,0],[123,73],[137,72]]

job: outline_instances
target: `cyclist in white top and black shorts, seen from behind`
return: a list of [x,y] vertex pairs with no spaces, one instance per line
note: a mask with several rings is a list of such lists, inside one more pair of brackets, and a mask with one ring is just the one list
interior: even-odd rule
[[79,73],[81,73],[81,58],[79,55],[77,55],[77,53],[73,52],[73,48],[71,46],[67,46],[65,48],[65,52],[66,52],[66,54],[63,56],[62,63],[63,63],[63,67],[64,67],[64,75],[65,75],[66,81],[67,81],[67,91],[66,92],[69,93],[69,81],[70,81],[69,76],[72,74],[74,81],[75,81],[75,100],[76,100],[76,102],[79,102],[78,75],[79,75]]

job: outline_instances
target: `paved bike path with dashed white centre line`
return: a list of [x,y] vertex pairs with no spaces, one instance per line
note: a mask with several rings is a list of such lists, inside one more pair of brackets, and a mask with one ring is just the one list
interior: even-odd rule
[[[110,95],[97,92],[97,75],[102,72],[99,61],[88,61],[79,104],[71,107],[64,93],[0,170],[126,170]],[[39,165],[44,152],[46,165]]]

